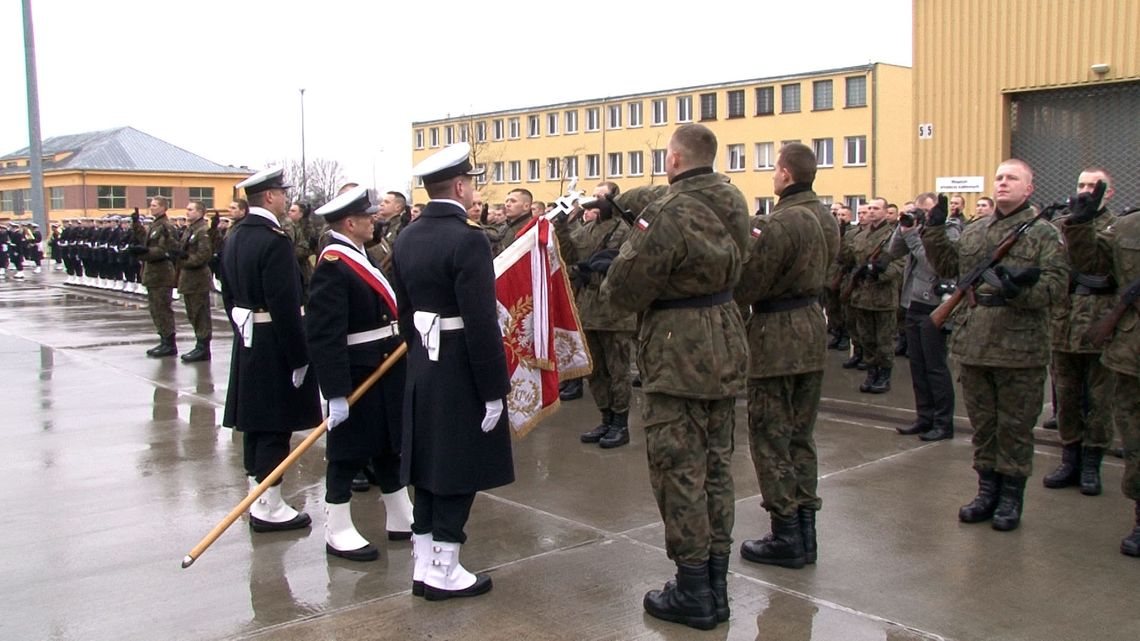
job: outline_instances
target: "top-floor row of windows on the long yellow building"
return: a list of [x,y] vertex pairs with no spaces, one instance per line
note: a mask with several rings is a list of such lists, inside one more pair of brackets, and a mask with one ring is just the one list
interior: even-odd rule
[[[864,107],[866,106],[866,76],[857,75],[845,79],[846,82],[846,106],[847,107]],[[755,89],[755,115],[764,116],[772,115],[775,113],[775,90],[774,86],[768,87],[757,87]],[[699,96],[700,106],[700,120],[717,120],[717,92],[701,94]],[[728,119],[744,117],[747,113],[746,104],[746,90],[744,89],[730,89],[725,91],[725,103],[727,105],[725,115]],[[644,103],[634,102],[626,104],[616,104],[605,106],[605,128],[610,129],[621,129],[626,128],[637,128],[643,125],[644,114],[642,109]],[[652,124],[661,125],[669,123],[669,99],[668,98],[657,98],[651,102],[652,107]],[[789,82],[787,84],[780,86],[780,112],[781,113],[797,113],[800,111],[800,83]],[[812,82],[812,109],[813,111],[826,111],[834,108],[834,91],[832,88],[831,80],[816,80]],[[693,97],[692,96],[677,96],[675,98],[675,112],[676,122],[692,122],[693,121]],[[562,133],[578,133],[578,109],[568,109],[565,112],[552,112],[545,114],[545,123],[543,122],[543,116],[539,114],[531,114],[527,116],[527,137],[538,138],[545,131],[546,136],[559,136]],[[544,129],[545,125],[545,129]],[[602,129],[602,107],[587,107],[586,108],[586,131],[601,131]],[[494,119],[490,121],[490,131],[488,132],[488,122],[478,121],[474,123],[474,139],[477,143],[486,143],[488,140],[488,133],[490,135],[490,140],[518,140],[522,137],[522,120],[521,116],[512,116],[507,119]],[[425,130],[415,130],[415,147],[417,149],[423,149],[427,147],[439,147],[441,145],[453,145],[455,143],[467,143],[471,138],[471,125],[469,123],[459,124],[448,124],[442,127],[442,138],[440,138],[439,127],[432,127],[426,130],[426,140],[424,140]]]

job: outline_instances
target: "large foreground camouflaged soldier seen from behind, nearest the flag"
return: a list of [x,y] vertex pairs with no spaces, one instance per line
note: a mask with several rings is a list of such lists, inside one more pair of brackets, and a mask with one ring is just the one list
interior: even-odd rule
[[735,396],[748,342],[732,290],[748,244],[748,204],[715,173],[716,136],[679,127],[666,151],[668,193],[637,217],[602,283],[602,300],[642,313],[650,480],[677,581],[649,592],[654,617],[698,628],[727,620]]

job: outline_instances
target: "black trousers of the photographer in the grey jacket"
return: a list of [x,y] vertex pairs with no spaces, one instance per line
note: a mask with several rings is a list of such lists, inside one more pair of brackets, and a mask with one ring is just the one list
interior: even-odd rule
[[914,412],[928,428],[953,429],[954,383],[946,365],[946,334],[930,320],[935,309],[911,301],[906,310],[906,358],[914,387]]

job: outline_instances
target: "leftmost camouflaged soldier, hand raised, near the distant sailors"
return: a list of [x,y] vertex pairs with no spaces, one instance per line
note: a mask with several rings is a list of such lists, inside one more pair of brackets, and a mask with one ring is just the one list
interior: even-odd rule
[[132,217],[135,245],[130,253],[142,261],[142,286],[146,287],[147,307],[150,318],[158,332],[160,342],[147,350],[147,356],[162,358],[178,354],[174,343],[174,309],[172,292],[174,282],[174,263],[171,252],[178,250],[178,238],[174,226],[166,218],[166,198],[150,198],[150,216],[154,220],[145,228]]

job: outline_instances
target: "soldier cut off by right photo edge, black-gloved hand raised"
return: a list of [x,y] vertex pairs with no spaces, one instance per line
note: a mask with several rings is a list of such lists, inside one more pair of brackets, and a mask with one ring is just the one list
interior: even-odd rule
[[[1105,176],[1107,178],[1107,175]],[[1140,279],[1140,214],[1131,213],[1099,229],[1100,200],[1107,185],[1081,194],[1062,226],[1073,268],[1083,274],[1112,274],[1119,287]],[[1140,305],[1133,303],[1116,324],[1100,364],[1114,379],[1116,425],[1124,437],[1124,478],[1121,492],[1135,502],[1135,527],[1121,542],[1121,552],[1140,557]]]

